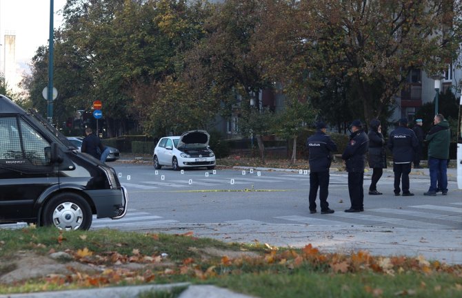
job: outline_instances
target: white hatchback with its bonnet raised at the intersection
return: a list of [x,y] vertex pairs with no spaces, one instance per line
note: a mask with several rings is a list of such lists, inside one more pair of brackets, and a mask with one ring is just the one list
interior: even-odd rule
[[154,168],[168,166],[174,171],[192,167],[214,169],[215,154],[208,147],[209,140],[210,135],[205,130],[188,131],[181,136],[161,138],[154,148]]

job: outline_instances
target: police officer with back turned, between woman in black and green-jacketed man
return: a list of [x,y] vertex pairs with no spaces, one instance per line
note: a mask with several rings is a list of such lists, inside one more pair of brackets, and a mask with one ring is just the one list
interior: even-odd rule
[[403,196],[414,195],[409,191],[409,173],[418,147],[419,140],[414,131],[408,128],[408,119],[401,118],[399,127],[394,129],[388,138],[388,149],[393,153],[394,195],[400,195],[400,182]]

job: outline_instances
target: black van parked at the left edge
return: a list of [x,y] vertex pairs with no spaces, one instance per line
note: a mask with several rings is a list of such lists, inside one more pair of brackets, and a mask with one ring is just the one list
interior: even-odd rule
[[128,196],[112,169],[34,111],[0,95],[0,228],[14,222],[88,230],[92,215],[117,220]]

